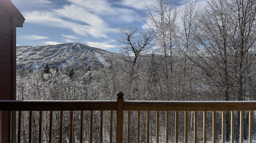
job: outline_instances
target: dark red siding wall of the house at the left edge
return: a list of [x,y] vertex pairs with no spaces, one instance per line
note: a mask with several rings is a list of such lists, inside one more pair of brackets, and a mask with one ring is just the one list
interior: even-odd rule
[[[15,78],[15,77],[14,77]],[[12,100],[12,16],[0,8],[0,100]],[[8,143],[8,112],[2,112],[2,143]]]

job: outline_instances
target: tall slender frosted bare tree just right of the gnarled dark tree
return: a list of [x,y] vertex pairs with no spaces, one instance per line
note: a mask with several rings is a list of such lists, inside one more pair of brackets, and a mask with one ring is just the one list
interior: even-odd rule
[[155,0],[154,5],[145,3],[146,11],[143,22],[152,30],[156,37],[158,51],[164,54],[164,83],[169,95],[173,97],[173,49],[177,43],[178,11],[175,0]]

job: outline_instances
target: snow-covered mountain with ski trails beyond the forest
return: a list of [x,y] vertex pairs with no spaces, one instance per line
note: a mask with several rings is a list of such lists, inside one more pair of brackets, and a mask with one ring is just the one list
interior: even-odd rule
[[110,57],[117,55],[81,43],[64,43],[48,46],[17,46],[17,68],[42,69],[46,63],[52,68],[88,67],[99,69],[110,66]]

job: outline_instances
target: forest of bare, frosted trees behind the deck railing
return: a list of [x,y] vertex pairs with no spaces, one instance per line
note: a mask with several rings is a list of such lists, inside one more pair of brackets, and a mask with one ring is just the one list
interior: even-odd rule
[[[125,100],[256,100],[256,0],[188,0],[179,9],[155,0],[145,8],[145,29],[119,28],[121,54],[110,67],[18,69],[17,100],[115,100],[119,90]],[[229,112],[226,125],[228,141]]]

